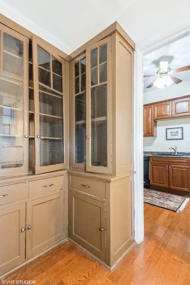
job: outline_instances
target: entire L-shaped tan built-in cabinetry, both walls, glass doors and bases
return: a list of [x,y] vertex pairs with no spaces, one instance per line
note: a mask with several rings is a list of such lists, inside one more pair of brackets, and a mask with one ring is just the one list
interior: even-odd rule
[[0,276],[67,235],[112,269],[134,244],[134,42],[115,22],[68,56],[2,19]]

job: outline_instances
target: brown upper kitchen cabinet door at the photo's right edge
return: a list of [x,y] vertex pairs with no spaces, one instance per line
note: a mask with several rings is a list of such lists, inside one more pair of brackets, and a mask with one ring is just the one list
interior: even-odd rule
[[190,115],[190,97],[172,100],[172,117]]

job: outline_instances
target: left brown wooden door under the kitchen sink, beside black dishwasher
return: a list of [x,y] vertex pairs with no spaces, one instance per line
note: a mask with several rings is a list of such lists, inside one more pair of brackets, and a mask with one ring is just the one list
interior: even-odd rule
[[150,163],[150,184],[167,188],[169,187],[167,164]]

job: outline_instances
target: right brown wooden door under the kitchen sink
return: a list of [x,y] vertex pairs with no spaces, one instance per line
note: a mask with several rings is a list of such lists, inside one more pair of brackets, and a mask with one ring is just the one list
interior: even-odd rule
[[169,165],[169,188],[189,192],[189,183],[189,166]]

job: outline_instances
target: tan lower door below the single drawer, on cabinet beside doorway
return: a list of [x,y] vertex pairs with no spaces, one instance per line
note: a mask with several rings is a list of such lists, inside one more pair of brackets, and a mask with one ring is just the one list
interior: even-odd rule
[[71,192],[70,237],[106,260],[106,204]]

